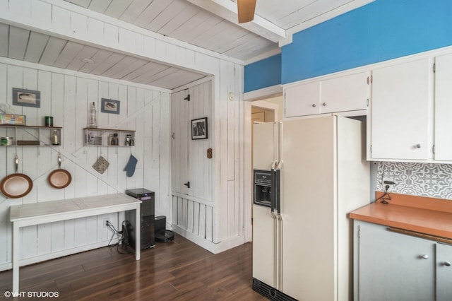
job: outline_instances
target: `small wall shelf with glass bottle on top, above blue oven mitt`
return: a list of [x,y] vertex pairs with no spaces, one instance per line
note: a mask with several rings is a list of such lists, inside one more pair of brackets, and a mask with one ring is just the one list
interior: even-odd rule
[[[85,146],[134,146],[135,131],[127,129],[100,129],[85,127]],[[117,136],[117,144],[113,144],[114,135]],[[129,142],[128,142],[129,141]]]

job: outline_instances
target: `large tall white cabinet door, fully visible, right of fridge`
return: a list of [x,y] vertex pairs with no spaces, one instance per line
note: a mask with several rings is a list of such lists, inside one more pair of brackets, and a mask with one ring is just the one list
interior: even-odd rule
[[372,159],[428,158],[431,70],[420,59],[372,71]]

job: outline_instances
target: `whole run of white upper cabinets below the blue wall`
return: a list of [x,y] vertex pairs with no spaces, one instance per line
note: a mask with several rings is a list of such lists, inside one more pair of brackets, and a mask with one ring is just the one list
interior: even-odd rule
[[367,160],[452,161],[452,47],[292,83],[284,95],[286,118],[365,114]]

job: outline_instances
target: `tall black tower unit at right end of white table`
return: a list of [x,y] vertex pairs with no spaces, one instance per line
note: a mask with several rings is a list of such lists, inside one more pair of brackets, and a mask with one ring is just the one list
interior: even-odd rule
[[147,249],[155,246],[155,193],[153,191],[139,188],[128,189],[126,194],[133,196],[135,199],[142,201],[141,203],[141,219],[136,220],[136,214],[134,210],[126,211],[126,220],[129,220],[129,243],[131,247],[135,248],[135,230],[136,227],[140,227],[141,249]]

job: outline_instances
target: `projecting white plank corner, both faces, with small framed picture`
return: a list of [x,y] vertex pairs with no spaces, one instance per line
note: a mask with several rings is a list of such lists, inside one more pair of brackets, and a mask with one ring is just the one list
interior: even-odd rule
[[[246,227],[251,231],[251,163],[242,88],[243,66],[222,61],[213,81],[172,94],[172,221],[179,234],[211,252],[251,240],[245,233]],[[184,100],[188,94],[190,102]],[[191,119],[201,117],[208,117],[209,138],[193,141]],[[212,159],[206,158],[208,148]]]

